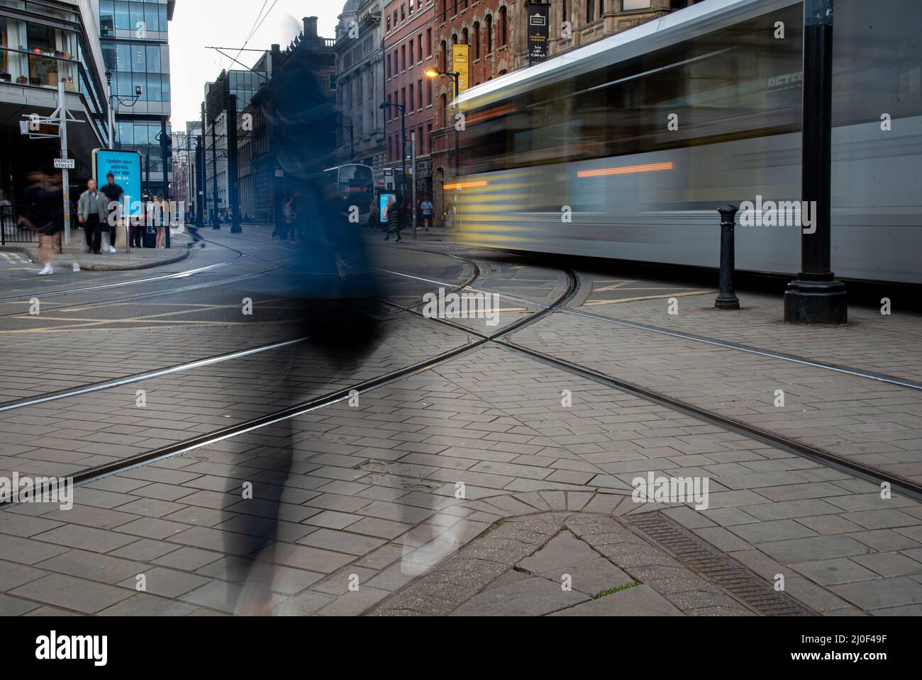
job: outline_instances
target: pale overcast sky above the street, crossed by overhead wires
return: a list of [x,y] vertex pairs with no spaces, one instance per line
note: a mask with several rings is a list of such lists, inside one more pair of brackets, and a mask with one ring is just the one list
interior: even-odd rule
[[[247,44],[247,49],[282,49],[301,32],[303,17],[317,17],[317,31],[336,37],[337,16],[345,0],[266,0],[273,7],[268,18]],[[180,0],[170,24],[170,85],[172,127],[185,130],[187,121],[200,119],[199,106],[205,83],[218,77],[222,68],[242,68],[207,46],[240,48],[253,29],[264,0]],[[266,17],[266,12],[263,12]],[[223,52],[227,53],[227,50]],[[230,53],[236,56],[237,52]],[[241,53],[239,61],[252,66],[259,53]]]

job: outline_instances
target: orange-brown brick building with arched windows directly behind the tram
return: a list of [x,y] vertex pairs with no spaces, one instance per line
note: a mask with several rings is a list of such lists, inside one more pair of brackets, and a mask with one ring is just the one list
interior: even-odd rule
[[[693,5],[699,0],[554,0],[550,6],[549,56],[578,49]],[[470,87],[528,65],[526,0],[435,0],[435,67],[453,72],[452,45],[469,48]],[[563,22],[569,21],[568,30]],[[454,111],[451,78],[440,77],[434,85],[434,131],[432,133],[433,203],[441,218],[443,185],[455,173]],[[461,172],[470,149],[461,134]],[[437,219],[438,221],[438,219]]]

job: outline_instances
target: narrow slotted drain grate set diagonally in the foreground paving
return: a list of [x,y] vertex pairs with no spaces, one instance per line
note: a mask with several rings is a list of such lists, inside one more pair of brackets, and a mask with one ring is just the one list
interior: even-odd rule
[[621,517],[621,522],[757,614],[816,616],[786,592],[775,591],[758,574],[659,512]]

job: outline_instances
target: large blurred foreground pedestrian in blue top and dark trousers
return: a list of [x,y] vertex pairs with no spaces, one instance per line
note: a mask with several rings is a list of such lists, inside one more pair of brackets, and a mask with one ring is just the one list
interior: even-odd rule
[[[324,170],[336,165],[335,135],[329,130],[335,129],[340,113],[327,96],[328,79],[314,72],[313,59],[301,59],[300,54],[295,52],[274,70],[274,111],[269,111],[278,123],[278,165],[293,190],[285,202],[284,233],[273,236],[290,234],[295,242],[270,249],[267,256],[277,257],[278,267],[246,284],[254,300],[283,299],[272,309],[293,311],[294,332],[309,338],[254,358],[252,398],[269,413],[299,404],[304,392],[317,384],[341,381],[346,369],[361,367],[378,341],[377,276],[361,229],[345,221],[344,205],[331,195],[324,178]],[[247,495],[225,507],[222,528],[225,552],[237,557],[230,562],[231,580],[243,585],[239,596],[231,590],[238,614],[270,612],[274,565],[290,558],[290,545],[279,541],[285,525],[279,517],[286,481],[290,475],[304,475],[291,469],[295,427],[293,418],[273,422],[260,430],[267,433],[265,443],[235,462],[242,475],[234,475],[228,493],[240,498],[247,485],[249,491],[243,488]],[[300,465],[301,452],[298,459]],[[310,562],[300,566],[323,570]]]

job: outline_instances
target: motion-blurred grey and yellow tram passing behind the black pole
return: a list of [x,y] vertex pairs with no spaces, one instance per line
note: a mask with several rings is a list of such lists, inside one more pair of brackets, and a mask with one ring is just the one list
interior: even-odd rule
[[[922,283],[922,3],[833,30],[833,270]],[[468,89],[458,240],[715,267],[719,205],[801,198],[802,33],[798,2],[704,0]],[[798,272],[798,225],[738,225],[739,270]]]

